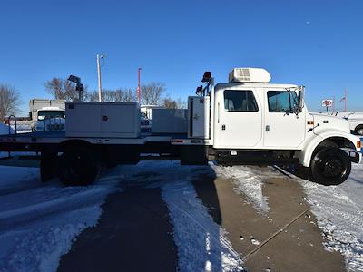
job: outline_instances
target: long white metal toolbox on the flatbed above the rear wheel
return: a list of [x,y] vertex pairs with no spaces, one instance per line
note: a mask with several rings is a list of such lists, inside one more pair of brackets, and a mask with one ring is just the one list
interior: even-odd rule
[[66,137],[140,136],[140,106],[135,102],[66,102]]

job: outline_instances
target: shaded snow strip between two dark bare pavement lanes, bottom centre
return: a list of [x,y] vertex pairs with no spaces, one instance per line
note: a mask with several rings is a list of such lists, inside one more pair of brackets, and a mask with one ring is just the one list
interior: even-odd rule
[[191,182],[172,182],[162,190],[174,226],[181,271],[244,270],[238,253],[197,198]]

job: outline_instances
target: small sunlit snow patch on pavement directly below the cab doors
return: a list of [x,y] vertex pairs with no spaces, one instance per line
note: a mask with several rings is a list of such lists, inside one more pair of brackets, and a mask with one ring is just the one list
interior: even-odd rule
[[268,198],[262,195],[263,180],[267,178],[279,177],[280,174],[272,168],[252,168],[248,166],[223,167],[211,165],[216,174],[221,175],[237,186],[238,193],[244,194],[252,206],[267,213],[270,209]]

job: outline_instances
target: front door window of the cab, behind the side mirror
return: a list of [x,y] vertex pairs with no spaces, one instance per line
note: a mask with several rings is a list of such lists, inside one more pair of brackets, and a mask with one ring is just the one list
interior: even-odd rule
[[296,92],[269,91],[267,97],[270,112],[289,112],[298,105]]

